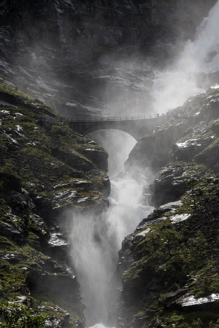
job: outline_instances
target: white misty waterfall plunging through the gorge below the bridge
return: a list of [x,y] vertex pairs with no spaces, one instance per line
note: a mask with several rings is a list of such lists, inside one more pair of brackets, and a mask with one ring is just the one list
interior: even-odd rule
[[87,324],[107,324],[115,297],[111,281],[124,237],[133,233],[152,207],[139,204],[142,188],[132,179],[111,180],[110,207],[102,215],[78,215],[72,233],[73,256]]

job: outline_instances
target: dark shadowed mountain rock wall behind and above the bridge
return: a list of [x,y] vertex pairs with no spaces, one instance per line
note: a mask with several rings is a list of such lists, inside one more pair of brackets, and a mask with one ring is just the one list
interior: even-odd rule
[[117,97],[126,115],[137,104],[143,112],[153,78],[145,58],[164,65],[215,2],[2,1],[0,73],[63,116],[109,116],[107,103],[122,114]]

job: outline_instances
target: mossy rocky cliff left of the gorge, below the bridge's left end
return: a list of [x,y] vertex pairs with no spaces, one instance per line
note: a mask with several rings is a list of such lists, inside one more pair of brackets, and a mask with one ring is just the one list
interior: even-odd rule
[[46,312],[51,327],[83,327],[68,227],[108,208],[107,154],[37,99],[0,89],[0,297]]

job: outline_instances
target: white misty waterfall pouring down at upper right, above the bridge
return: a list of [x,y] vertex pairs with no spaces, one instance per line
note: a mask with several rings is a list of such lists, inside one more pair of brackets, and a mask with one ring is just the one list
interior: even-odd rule
[[188,40],[175,63],[156,74],[152,94],[154,111],[166,111],[181,106],[188,97],[206,92],[208,78],[201,81],[198,74],[219,69],[219,1],[210,10],[196,32],[195,40]]

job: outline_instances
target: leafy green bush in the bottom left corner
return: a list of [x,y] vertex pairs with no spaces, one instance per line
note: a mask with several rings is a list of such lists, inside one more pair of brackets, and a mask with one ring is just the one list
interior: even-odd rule
[[45,313],[31,315],[28,308],[20,303],[12,302],[0,303],[0,327],[4,328],[43,328],[45,323]]

